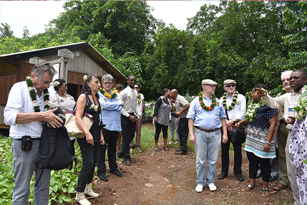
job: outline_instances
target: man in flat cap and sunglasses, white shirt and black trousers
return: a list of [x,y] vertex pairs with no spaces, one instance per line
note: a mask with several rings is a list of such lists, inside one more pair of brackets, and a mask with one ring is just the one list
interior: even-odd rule
[[[246,99],[244,95],[239,94],[235,90],[236,81],[227,79],[224,81],[224,93],[220,101],[226,112],[226,124],[227,132],[233,132],[233,126],[236,122],[243,120],[246,112]],[[233,173],[239,181],[244,181],[242,176],[242,142],[232,142],[233,151],[234,151],[234,166]],[[228,176],[229,169],[229,147],[230,140],[227,143],[222,144],[222,171],[218,179],[224,179]]]

